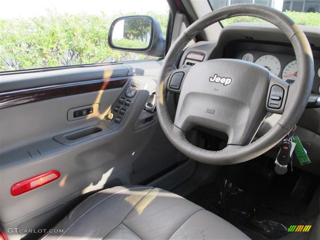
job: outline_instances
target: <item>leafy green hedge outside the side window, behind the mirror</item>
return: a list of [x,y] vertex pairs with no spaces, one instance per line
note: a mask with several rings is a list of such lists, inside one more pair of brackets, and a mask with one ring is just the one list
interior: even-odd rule
[[[45,17],[0,20],[0,71],[150,58],[109,48],[110,24],[124,15],[135,14],[61,16],[48,12]],[[163,14],[160,21],[166,29],[168,15]]]

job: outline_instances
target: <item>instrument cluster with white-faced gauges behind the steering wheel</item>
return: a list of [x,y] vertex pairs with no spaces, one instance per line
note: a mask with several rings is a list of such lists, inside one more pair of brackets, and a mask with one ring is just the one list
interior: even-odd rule
[[[320,93],[320,52],[313,50],[315,77],[312,93]],[[298,65],[292,49],[288,44],[275,44],[254,41],[235,41],[226,46],[224,58],[250,61],[268,69],[272,74],[289,84],[296,81]]]

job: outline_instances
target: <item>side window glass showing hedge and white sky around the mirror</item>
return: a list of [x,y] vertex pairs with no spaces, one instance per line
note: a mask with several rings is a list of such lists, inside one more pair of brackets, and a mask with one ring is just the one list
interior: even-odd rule
[[154,58],[112,50],[113,20],[148,15],[164,36],[169,19],[166,0],[5,1],[0,8],[0,72]]

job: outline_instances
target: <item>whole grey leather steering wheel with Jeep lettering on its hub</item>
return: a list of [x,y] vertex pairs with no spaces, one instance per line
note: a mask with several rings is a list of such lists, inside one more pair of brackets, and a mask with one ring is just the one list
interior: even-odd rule
[[[214,59],[191,68],[175,64],[188,42],[211,24],[235,16],[252,16],[278,27],[291,41],[298,79],[289,85],[254,63]],[[260,156],[280,142],[300,119],[309,99],[314,77],[310,44],[299,26],[284,13],[258,4],[236,4],[212,11],[190,25],[170,47],[160,70],[156,106],[160,125],[170,142],[186,156],[207,164],[227,165]],[[168,92],[180,93],[174,122],[167,107]],[[279,121],[253,141],[268,112]],[[186,138],[194,126],[228,134],[220,151],[198,148]]]

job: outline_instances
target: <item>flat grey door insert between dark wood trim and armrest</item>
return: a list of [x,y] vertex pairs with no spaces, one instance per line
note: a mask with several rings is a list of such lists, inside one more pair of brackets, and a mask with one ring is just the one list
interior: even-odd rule
[[[59,130],[88,123],[98,123],[103,119],[103,113],[108,111],[120,91],[121,88],[102,92],[95,91],[2,108],[0,109],[2,150],[6,147],[15,147],[22,141],[29,142]],[[88,115],[84,119],[68,121],[67,115],[70,109],[93,104],[99,106],[96,113]]]

